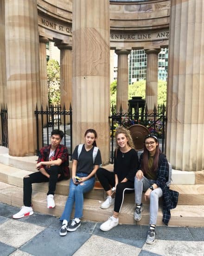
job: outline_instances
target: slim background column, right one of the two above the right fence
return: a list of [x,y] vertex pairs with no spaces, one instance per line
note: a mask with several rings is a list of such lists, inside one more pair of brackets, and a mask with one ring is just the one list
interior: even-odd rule
[[158,97],[158,54],[161,49],[147,49],[146,104],[148,113],[153,113],[154,104],[157,108]]

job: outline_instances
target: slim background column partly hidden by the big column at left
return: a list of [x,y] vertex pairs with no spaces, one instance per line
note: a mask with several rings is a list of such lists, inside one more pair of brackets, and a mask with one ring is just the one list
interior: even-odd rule
[[40,106],[42,104],[43,109],[46,109],[46,106],[48,105],[47,59],[46,59],[46,43],[48,42],[49,42],[48,38],[44,36],[39,37]]

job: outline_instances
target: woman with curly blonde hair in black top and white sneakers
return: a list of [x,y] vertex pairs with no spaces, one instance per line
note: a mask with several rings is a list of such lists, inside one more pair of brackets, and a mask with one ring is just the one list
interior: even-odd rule
[[[134,149],[130,132],[124,128],[118,128],[115,132],[117,148],[114,154],[114,171],[110,172],[99,168],[96,175],[107,193],[107,199],[101,208],[107,209],[114,204],[114,212],[108,221],[104,222],[100,229],[108,231],[118,225],[118,216],[124,200],[124,193],[134,192],[134,176],[138,166],[138,155]],[[112,198],[113,189],[115,198]]]

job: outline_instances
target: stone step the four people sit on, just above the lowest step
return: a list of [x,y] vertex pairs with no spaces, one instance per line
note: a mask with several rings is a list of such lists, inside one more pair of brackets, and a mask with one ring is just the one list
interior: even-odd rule
[[[14,185],[17,187],[23,187],[23,177],[29,175],[31,172],[27,170],[22,170],[19,168],[14,168],[10,166],[6,166],[0,164],[0,181],[6,182],[10,185]],[[56,186],[56,194],[57,195],[68,195],[69,191],[69,180],[64,180],[61,182],[57,182]],[[40,192],[48,191],[48,183],[35,183],[32,185],[32,189]],[[178,204],[179,205],[204,205],[204,184],[196,184],[196,185],[175,185],[172,184],[170,189],[176,190],[179,192]],[[100,185],[100,182],[96,182],[94,189],[92,189],[89,193],[84,195],[85,198],[101,200],[103,201],[105,198],[104,190]],[[125,202],[134,203],[134,193],[127,194],[125,197]],[[142,202],[147,204],[144,200],[144,193],[142,195]],[[160,200],[160,204],[161,200]]]

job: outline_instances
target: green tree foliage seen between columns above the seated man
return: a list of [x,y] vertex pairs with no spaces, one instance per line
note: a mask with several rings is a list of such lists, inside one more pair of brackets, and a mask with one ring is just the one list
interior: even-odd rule
[[47,62],[47,86],[49,104],[60,103],[60,71],[58,61],[49,60]]

